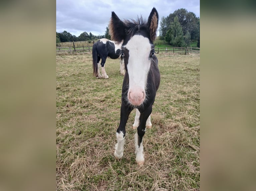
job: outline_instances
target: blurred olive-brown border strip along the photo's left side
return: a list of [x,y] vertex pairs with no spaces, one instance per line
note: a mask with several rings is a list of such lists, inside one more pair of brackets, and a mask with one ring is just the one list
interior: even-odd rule
[[0,4],[0,190],[54,190],[55,1]]

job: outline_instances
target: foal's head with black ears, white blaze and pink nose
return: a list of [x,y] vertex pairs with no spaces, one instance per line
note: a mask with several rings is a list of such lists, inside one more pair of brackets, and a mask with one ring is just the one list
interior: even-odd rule
[[128,100],[133,105],[143,103],[147,86],[147,75],[151,62],[156,59],[153,41],[156,38],[158,13],[152,9],[148,20],[138,18],[136,21],[121,21],[112,12],[109,32],[114,41],[121,42],[125,69],[129,76]]

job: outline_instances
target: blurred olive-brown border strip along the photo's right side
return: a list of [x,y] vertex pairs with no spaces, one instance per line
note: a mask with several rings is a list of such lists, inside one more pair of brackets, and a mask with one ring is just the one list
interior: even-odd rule
[[201,1],[201,190],[256,190],[255,1]]

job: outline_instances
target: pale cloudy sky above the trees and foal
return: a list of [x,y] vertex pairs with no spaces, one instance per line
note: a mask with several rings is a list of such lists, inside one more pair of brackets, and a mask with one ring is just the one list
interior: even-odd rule
[[200,17],[200,0],[56,0],[56,32],[67,31],[77,37],[91,32],[104,35],[111,12],[123,19],[147,19],[155,7],[158,16],[158,30],[162,17],[184,8]]

